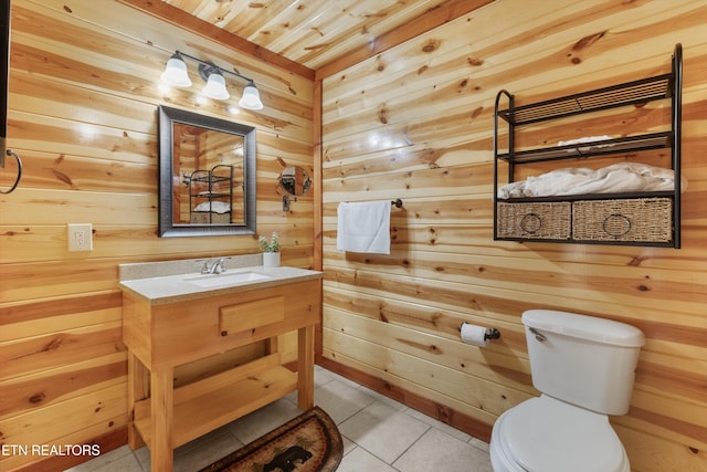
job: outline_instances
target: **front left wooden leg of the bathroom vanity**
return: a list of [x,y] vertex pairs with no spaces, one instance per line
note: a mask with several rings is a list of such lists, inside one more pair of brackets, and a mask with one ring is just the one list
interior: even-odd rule
[[152,423],[150,441],[150,470],[152,472],[171,472],[173,465],[173,368],[158,367],[151,377]]

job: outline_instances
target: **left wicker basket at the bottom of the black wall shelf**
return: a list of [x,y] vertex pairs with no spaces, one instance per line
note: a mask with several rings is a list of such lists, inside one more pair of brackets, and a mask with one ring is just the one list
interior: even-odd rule
[[572,233],[572,207],[551,203],[498,203],[498,238],[568,240]]

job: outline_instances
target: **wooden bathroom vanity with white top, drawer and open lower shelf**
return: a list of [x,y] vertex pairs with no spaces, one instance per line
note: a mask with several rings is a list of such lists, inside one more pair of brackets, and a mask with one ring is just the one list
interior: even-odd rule
[[[186,293],[180,276],[122,282],[128,441],[133,449],[147,444],[152,471],[171,471],[175,448],[294,390],[299,409],[314,406],[321,274],[282,269],[287,276]],[[277,350],[277,336],[294,331],[297,373],[282,366]],[[175,388],[176,366],[263,340],[266,355]]]

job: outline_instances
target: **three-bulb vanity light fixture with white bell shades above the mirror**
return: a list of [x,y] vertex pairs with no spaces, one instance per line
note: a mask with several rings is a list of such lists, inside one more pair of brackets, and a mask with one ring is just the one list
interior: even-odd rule
[[167,61],[167,67],[165,67],[165,72],[162,72],[162,75],[160,76],[160,78],[165,83],[176,87],[191,86],[191,80],[189,78],[189,73],[187,72],[184,57],[199,63],[199,75],[204,81],[207,81],[207,84],[201,92],[204,96],[213,99],[228,99],[230,95],[229,91],[225,87],[225,78],[223,77],[223,74],[231,74],[247,82],[245,88],[243,90],[243,96],[239,101],[239,105],[246,109],[263,108],[261,95],[257,92],[257,88],[255,87],[252,78],[245,77],[241,74],[228,71],[225,69],[221,69],[215,64],[202,61],[189,54],[184,54],[183,52],[176,51],[175,54],[169,57],[169,61]]

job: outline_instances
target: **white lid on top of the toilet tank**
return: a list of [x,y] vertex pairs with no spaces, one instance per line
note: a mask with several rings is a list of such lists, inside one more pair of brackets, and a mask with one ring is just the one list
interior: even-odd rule
[[555,310],[528,310],[520,319],[528,327],[602,344],[626,347],[645,344],[641,329],[612,319]]

